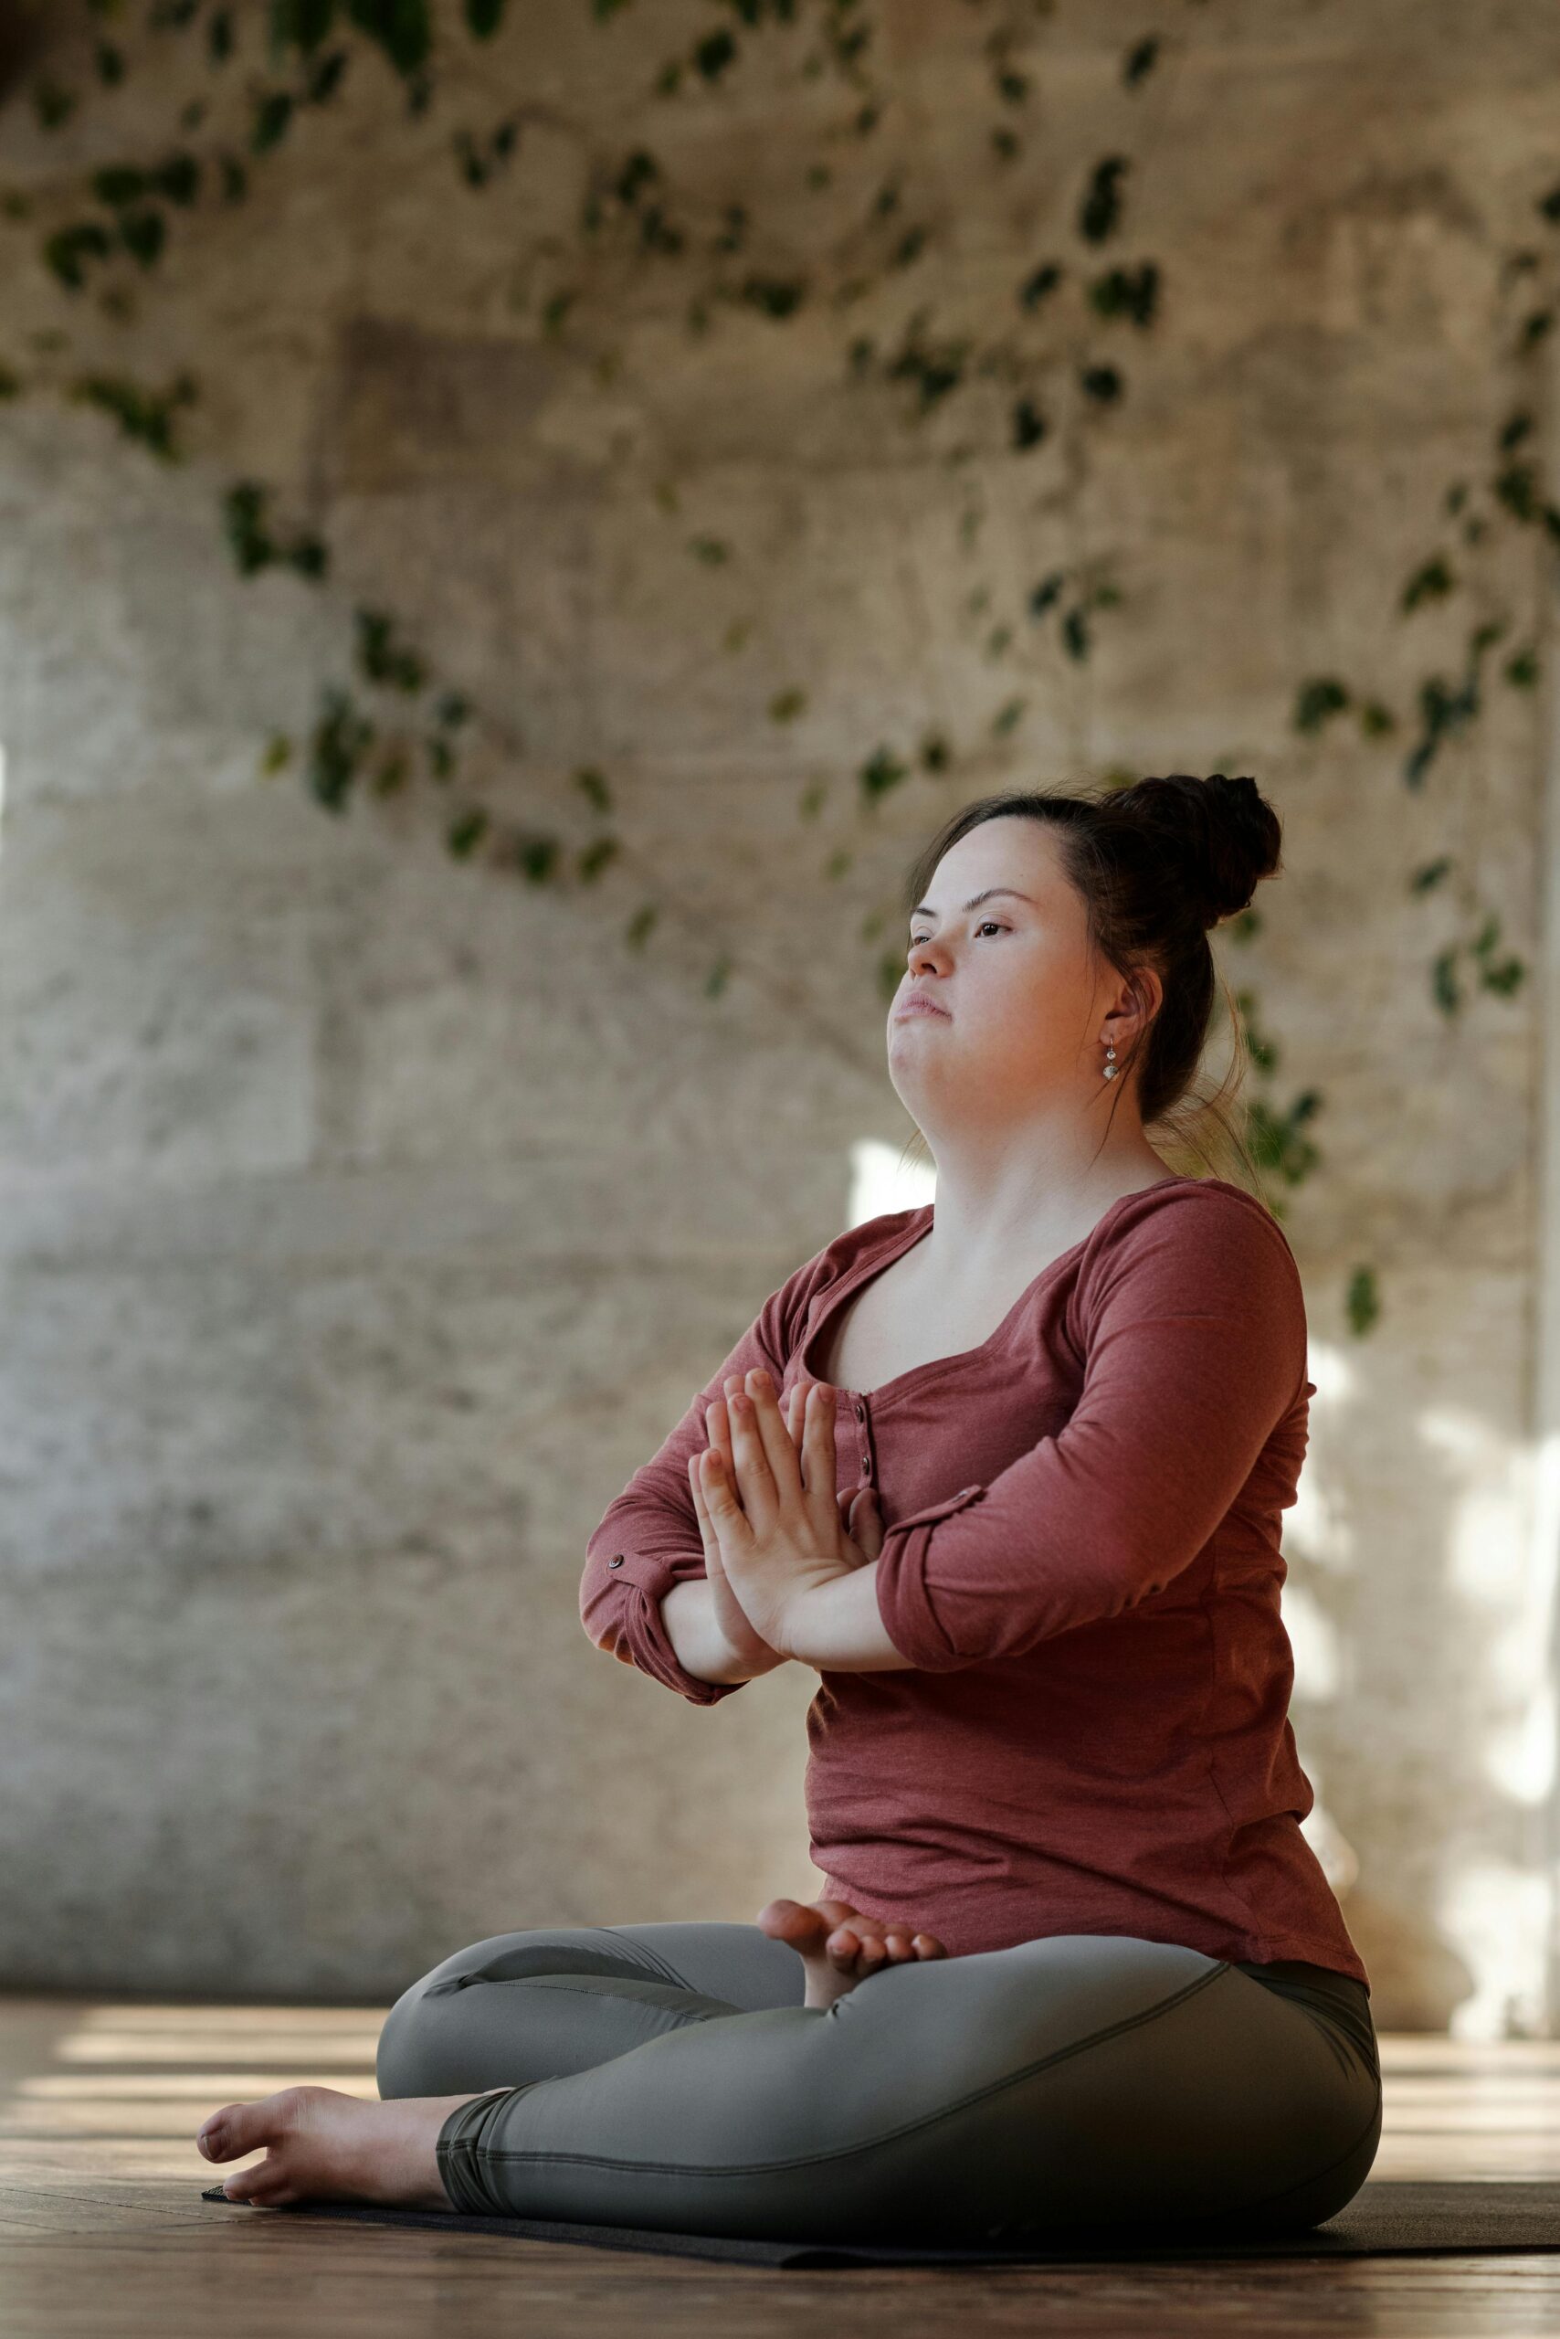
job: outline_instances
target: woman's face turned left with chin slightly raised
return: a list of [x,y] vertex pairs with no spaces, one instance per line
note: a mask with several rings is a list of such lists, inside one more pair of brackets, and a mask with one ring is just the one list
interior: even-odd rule
[[[905,1109],[929,1130],[1001,1127],[1092,1099],[1104,1008],[1120,994],[1106,978],[1055,830],[1020,814],[980,821],[943,854],[910,917],[889,1008],[889,1078]],[[907,1013],[912,999],[943,1013]]]

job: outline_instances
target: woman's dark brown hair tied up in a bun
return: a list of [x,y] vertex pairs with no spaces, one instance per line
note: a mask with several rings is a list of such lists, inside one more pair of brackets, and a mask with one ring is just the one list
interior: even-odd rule
[[[1230,1116],[1244,1083],[1244,1022],[1207,936],[1219,919],[1244,910],[1258,882],[1279,868],[1277,812],[1254,779],[1226,779],[1223,772],[1209,779],[1169,772],[1078,795],[1041,788],[982,795],[952,814],[917,854],[905,910],[926,896],[950,844],[982,821],[1013,814],[1057,830],[1062,868],[1083,898],[1099,957],[1127,978],[1153,966],[1165,985],[1158,1013],[1111,1085],[1120,1092],[1120,1078],[1137,1069],[1139,1113],[1144,1127],[1158,1127],[1160,1151],[1202,1162],[1216,1177],[1235,1167],[1258,1188],[1256,1162]],[[1235,1048],[1223,1081],[1200,1090],[1216,999],[1223,999]],[[924,1146],[919,1130],[907,1151],[917,1146]]]

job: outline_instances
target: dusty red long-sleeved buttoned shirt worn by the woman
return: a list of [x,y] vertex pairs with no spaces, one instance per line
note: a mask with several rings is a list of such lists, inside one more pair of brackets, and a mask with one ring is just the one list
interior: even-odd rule
[[[660,1598],[704,1574],[688,1455],[727,1373],[781,1394],[933,1207],[835,1235],[769,1293],[587,1546],[580,1616],[695,1705]],[[1282,1513],[1305,1460],[1305,1300],[1223,1179],[1120,1195],[980,1347],[840,1389],[840,1488],[877,1485],[877,1607],[912,1670],[823,1672],[807,1712],[830,1897],[950,1953],[1092,1932],[1371,1988],[1300,1834]]]

